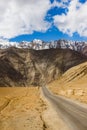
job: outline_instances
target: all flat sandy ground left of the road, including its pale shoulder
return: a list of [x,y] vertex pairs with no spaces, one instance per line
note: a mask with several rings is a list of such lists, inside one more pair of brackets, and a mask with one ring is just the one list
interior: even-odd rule
[[0,88],[0,130],[68,130],[38,87]]

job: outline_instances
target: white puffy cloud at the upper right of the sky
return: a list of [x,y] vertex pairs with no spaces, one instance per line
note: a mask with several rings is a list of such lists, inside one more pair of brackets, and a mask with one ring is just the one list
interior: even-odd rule
[[54,16],[54,25],[63,33],[70,36],[77,32],[87,37],[87,2],[80,3],[72,0],[67,7],[68,12]]

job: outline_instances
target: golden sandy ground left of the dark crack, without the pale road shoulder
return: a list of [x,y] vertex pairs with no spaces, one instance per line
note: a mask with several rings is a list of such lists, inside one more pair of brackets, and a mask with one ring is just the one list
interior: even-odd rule
[[38,88],[0,88],[0,130],[43,130]]

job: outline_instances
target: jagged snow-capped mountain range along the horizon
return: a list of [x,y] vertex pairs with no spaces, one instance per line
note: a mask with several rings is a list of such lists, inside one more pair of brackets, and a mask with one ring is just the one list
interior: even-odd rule
[[31,42],[22,41],[18,43],[18,42],[9,42],[7,40],[0,40],[0,49],[6,49],[12,46],[17,48],[29,48],[35,50],[43,50],[50,48],[62,48],[62,49],[68,48],[71,50],[82,52],[85,48],[87,48],[87,42],[68,41],[68,40],[56,40],[51,42],[44,42],[39,39],[34,39]]

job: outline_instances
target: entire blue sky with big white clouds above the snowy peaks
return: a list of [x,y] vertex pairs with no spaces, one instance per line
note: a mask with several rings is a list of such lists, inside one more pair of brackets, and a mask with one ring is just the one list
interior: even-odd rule
[[[20,3],[17,0],[13,1],[14,3],[9,0],[6,7],[10,11],[4,12],[8,19],[0,18],[1,38],[14,42],[33,39],[87,41],[86,0],[42,0],[42,3],[41,0],[37,0],[37,3],[35,0],[21,0]],[[2,5],[5,10],[5,5]]]

